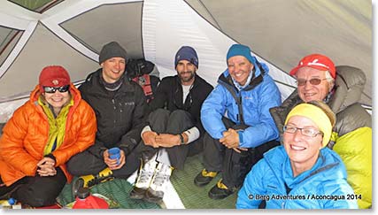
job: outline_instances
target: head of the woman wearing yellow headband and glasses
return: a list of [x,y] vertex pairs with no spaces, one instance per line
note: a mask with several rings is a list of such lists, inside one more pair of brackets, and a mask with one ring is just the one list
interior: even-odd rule
[[329,142],[335,121],[334,112],[322,102],[298,104],[289,111],[282,138],[294,176],[315,164],[320,149]]

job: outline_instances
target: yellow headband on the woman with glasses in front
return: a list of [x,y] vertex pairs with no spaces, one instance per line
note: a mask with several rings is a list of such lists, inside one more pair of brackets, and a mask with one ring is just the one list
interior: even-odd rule
[[325,147],[332,134],[332,124],[327,114],[313,104],[298,104],[288,114],[285,125],[292,116],[302,116],[311,119],[319,127],[323,135],[323,147]]

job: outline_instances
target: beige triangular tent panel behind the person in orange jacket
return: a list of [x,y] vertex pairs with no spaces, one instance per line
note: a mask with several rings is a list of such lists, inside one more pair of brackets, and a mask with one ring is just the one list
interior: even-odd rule
[[[38,50],[38,54],[35,54]],[[70,56],[71,58],[66,58]],[[0,97],[17,96],[35,88],[46,65],[63,65],[73,81],[83,80],[98,64],[73,50],[39,24],[12,67],[0,79]]]

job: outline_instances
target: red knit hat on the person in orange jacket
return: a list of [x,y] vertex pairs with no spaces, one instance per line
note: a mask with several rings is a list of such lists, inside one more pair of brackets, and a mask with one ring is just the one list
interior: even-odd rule
[[70,75],[66,69],[60,65],[49,65],[42,69],[39,75],[39,86],[41,92],[44,92],[43,87],[63,87],[70,85]]

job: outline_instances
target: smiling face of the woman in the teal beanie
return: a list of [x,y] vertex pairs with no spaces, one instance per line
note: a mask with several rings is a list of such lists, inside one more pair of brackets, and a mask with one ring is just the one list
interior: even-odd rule
[[252,69],[253,64],[243,56],[228,58],[228,73],[242,86],[247,82]]

